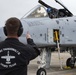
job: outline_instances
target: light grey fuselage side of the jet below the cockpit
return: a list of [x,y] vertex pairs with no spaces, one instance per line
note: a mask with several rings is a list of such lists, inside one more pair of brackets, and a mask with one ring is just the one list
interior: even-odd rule
[[[23,34],[20,41],[27,44],[26,33],[30,32],[34,42],[39,46],[56,45],[55,31],[58,32],[58,41],[61,46],[76,46],[76,17],[22,18]],[[0,42],[6,38],[3,28],[0,28]]]

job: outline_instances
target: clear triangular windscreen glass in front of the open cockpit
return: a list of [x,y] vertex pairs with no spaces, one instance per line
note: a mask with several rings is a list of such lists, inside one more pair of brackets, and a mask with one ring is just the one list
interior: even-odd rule
[[43,6],[40,6],[32,11],[26,18],[41,18],[47,16],[46,9]]

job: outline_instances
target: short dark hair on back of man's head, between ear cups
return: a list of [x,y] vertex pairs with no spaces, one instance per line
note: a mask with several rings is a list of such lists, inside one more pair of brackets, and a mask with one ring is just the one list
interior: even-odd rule
[[7,35],[16,35],[20,26],[20,20],[16,17],[9,18],[6,23]]

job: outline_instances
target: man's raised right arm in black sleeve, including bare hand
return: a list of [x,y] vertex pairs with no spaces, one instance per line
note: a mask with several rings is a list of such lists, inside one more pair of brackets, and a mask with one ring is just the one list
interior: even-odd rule
[[31,39],[31,36],[29,33],[26,34],[26,39],[27,39],[27,43],[29,45],[31,45],[31,47],[29,48],[30,50],[30,54],[31,54],[31,58],[30,60],[34,59],[35,57],[37,57],[38,55],[40,55],[40,51],[37,48],[36,44],[34,43],[33,39]]

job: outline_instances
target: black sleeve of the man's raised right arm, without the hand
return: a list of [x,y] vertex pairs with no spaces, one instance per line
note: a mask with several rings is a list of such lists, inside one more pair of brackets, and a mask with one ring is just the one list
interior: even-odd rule
[[29,48],[29,60],[32,60],[34,58],[36,58],[38,55],[40,55],[40,50],[38,49],[38,47],[36,46],[36,44],[34,43],[33,39],[27,39],[27,43],[28,48]]

